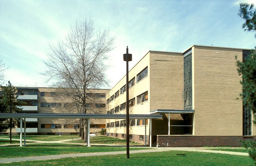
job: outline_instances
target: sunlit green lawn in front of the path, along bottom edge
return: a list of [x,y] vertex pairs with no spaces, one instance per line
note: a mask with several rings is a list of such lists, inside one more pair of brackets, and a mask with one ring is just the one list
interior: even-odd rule
[[105,156],[90,156],[90,157],[76,157],[64,158],[44,161],[27,161],[27,162],[13,162],[4,163],[6,166],[62,166],[62,165],[139,165],[139,166],[251,166],[254,161],[248,156],[227,155],[217,153],[203,153],[203,152],[188,152],[188,151],[167,151],[154,153],[137,153],[130,154],[130,159],[122,155],[105,155]]

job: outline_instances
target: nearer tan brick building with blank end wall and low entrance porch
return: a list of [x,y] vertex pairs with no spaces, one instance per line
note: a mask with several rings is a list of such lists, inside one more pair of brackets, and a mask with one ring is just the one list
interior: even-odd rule
[[[164,147],[240,146],[255,140],[252,112],[242,100],[242,61],[249,49],[193,45],[183,53],[149,51],[129,71],[129,113],[161,113],[152,120],[152,142]],[[126,76],[107,94],[107,113],[126,113]],[[146,123],[146,127],[145,127]],[[148,120],[130,120],[130,140],[148,143]],[[124,119],[107,120],[110,136],[122,138]],[[125,137],[124,137],[125,138]]]

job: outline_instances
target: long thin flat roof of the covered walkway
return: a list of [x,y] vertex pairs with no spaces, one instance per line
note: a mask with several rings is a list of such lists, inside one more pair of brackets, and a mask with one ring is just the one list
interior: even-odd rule
[[[0,118],[51,118],[51,119],[126,119],[126,114],[82,113],[0,113]],[[129,114],[129,119],[159,119],[160,114]]]

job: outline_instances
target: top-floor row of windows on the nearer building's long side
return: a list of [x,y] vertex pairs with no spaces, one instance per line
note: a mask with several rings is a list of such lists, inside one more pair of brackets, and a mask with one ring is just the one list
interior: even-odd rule
[[[142,80],[143,78],[145,78],[148,75],[148,67],[146,67],[145,69],[143,69],[139,74],[137,74],[137,83]],[[133,85],[135,85],[135,77],[133,77],[129,83],[128,83],[128,87],[131,88]],[[126,91],[126,84],[120,88],[120,94],[124,93]],[[109,102],[111,102],[112,100],[114,100],[114,98],[117,98],[119,96],[119,90],[112,95],[110,98],[107,99],[107,104]]]

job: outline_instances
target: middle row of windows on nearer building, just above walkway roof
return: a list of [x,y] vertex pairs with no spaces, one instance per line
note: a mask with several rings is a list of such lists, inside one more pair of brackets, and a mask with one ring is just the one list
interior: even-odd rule
[[[146,91],[146,92],[140,94],[139,96],[137,96],[137,104],[140,104],[140,103],[145,102],[147,100],[148,100],[148,91]],[[129,100],[129,107],[132,107],[134,105],[135,105],[135,97]],[[113,114],[113,113],[122,111],[124,109],[126,109],[126,102],[124,102],[123,104],[107,111],[107,114]]]

